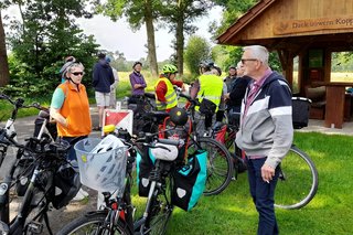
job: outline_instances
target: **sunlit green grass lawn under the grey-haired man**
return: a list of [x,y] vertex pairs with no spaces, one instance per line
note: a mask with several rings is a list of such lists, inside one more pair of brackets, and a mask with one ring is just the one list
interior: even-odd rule
[[[352,234],[353,137],[296,132],[295,142],[314,161],[319,190],[301,210],[276,210],[280,234]],[[133,201],[140,202],[140,211],[141,200],[135,196]],[[243,173],[220,195],[203,196],[191,212],[174,210],[168,234],[254,235],[256,228],[257,212]]]

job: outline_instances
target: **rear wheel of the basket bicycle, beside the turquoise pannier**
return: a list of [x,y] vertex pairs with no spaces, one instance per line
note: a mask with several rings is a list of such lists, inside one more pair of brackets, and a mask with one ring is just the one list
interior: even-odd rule
[[151,218],[148,222],[149,228],[146,231],[146,234],[149,235],[165,234],[168,222],[170,221],[173,212],[173,205],[171,204],[171,189],[173,181],[171,178],[165,178],[164,180],[162,189],[151,202]]

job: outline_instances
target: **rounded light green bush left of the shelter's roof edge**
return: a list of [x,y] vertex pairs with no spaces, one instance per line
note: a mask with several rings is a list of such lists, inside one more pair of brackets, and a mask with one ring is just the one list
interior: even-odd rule
[[201,61],[210,58],[211,46],[207,41],[201,36],[190,36],[185,47],[185,64],[192,75],[199,74],[199,64]]

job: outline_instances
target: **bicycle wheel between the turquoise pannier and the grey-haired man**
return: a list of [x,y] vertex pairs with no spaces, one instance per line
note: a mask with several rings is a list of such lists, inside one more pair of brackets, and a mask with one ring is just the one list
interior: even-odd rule
[[[204,195],[216,195],[221,193],[231,182],[234,172],[232,156],[220,142],[207,137],[196,140],[202,150],[207,151],[207,180]],[[189,154],[199,149],[195,142],[189,148]]]

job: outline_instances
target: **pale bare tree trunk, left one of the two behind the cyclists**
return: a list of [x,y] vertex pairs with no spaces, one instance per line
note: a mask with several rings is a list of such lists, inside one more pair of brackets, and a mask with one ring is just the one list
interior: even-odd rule
[[158,64],[156,55],[156,41],[154,41],[154,26],[152,15],[152,2],[146,0],[145,21],[147,30],[147,47],[148,47],[148,60],[150,63],[150,70],[153,77],[158,76]]

